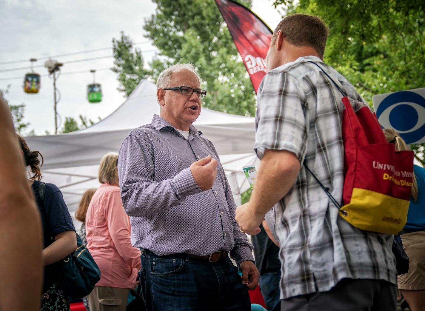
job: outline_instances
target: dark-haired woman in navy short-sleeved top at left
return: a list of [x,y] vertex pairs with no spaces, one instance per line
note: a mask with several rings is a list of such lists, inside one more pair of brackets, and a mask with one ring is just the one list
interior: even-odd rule
[[26,167],[29,167],[33,174],[30,181],[32,181],[32,189],[40,210],[44,232],[42,251],[44,283],[41,311],[68,311],[70,310],[68,296],[59,282],[60,272],[57,262],[77,249],[74,224],[58,187],[54,184],[45,184],[44,198],[40,198],[39,189],[42,185],[40,166],[43,164],[43,157],[40,152],[31,151],[21,136],[18,138]]

